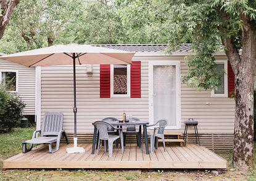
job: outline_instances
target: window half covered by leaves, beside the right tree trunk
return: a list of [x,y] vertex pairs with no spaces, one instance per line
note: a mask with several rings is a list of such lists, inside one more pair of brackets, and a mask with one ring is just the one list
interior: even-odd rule
[[[228,61],[217,61],[217,67],[215,72],[220,72],[222,75],[221,78],[221,87],[218,90],[212,90],[211,96],[215,98],[228,98],[228,75],[225,72],[228,72]],[[225,72],[223,71],[225,70]]]

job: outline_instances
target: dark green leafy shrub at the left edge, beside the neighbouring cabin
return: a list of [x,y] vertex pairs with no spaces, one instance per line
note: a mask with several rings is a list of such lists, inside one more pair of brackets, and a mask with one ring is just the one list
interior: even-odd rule
[[19,126],[25,103],[17,93],[7,90],[3,80],[0,84],[0,133],[6,133]]

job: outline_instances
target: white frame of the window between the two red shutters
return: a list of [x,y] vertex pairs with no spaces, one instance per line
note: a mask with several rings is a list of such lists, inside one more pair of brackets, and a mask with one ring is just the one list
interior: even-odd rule
[[127,94],[114,94],[114,64],[110,64],[110,98],[131,97],[131,65],[127,64]]

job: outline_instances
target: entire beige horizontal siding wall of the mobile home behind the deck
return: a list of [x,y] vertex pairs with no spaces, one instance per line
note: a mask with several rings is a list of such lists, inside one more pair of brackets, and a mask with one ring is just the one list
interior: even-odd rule
[[[99,98],[99,65],[93,66],[93,77],[88,77],[85,65],[76,65],[77,132],[93,133],[91,123],[104,117],[122,119],[123,110],[141,120],[149,118],[149,60],[180,60],[181,74],[187,68],[184,56],[134,56],[141,61],[141,98]],[[225,58],[225,59],[223,59]],[[217,60],[227,60],[217,57]],[[207,105],[206,102],[211,102]],[[47,111],[64,113],[64,129],[73,133],[73,67],[41,67],[41,118]],[[199,121],[199,133],[233,133],[234,100],[229,98],[211,98],[210,91],[196,91],[181,85],[181,129],[188,118]],[[42,119],[41,119],[42,120]],[[192,133],[193,129],[189,129]]]

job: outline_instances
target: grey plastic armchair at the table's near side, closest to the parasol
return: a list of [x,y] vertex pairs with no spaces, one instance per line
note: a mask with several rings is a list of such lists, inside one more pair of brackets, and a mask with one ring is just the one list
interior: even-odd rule
[[[107,141],[109,145],[109,156],[112,156],[113,152],[113,142],[120,138],[122,154],[123,154],[123,130],[122,128],[115,128],[110,123],[105,121],[95,121],[94,126],[96,126],[97,130],[99,131],[99,142],[97,145],[97,155],[99,154],[99,145],[101,144],[101,140],[104,141],[104,150],[107,152]],[[109,126],[113,129],[118,129],[120,131],[119,135],[112,135],[108,133]]]

